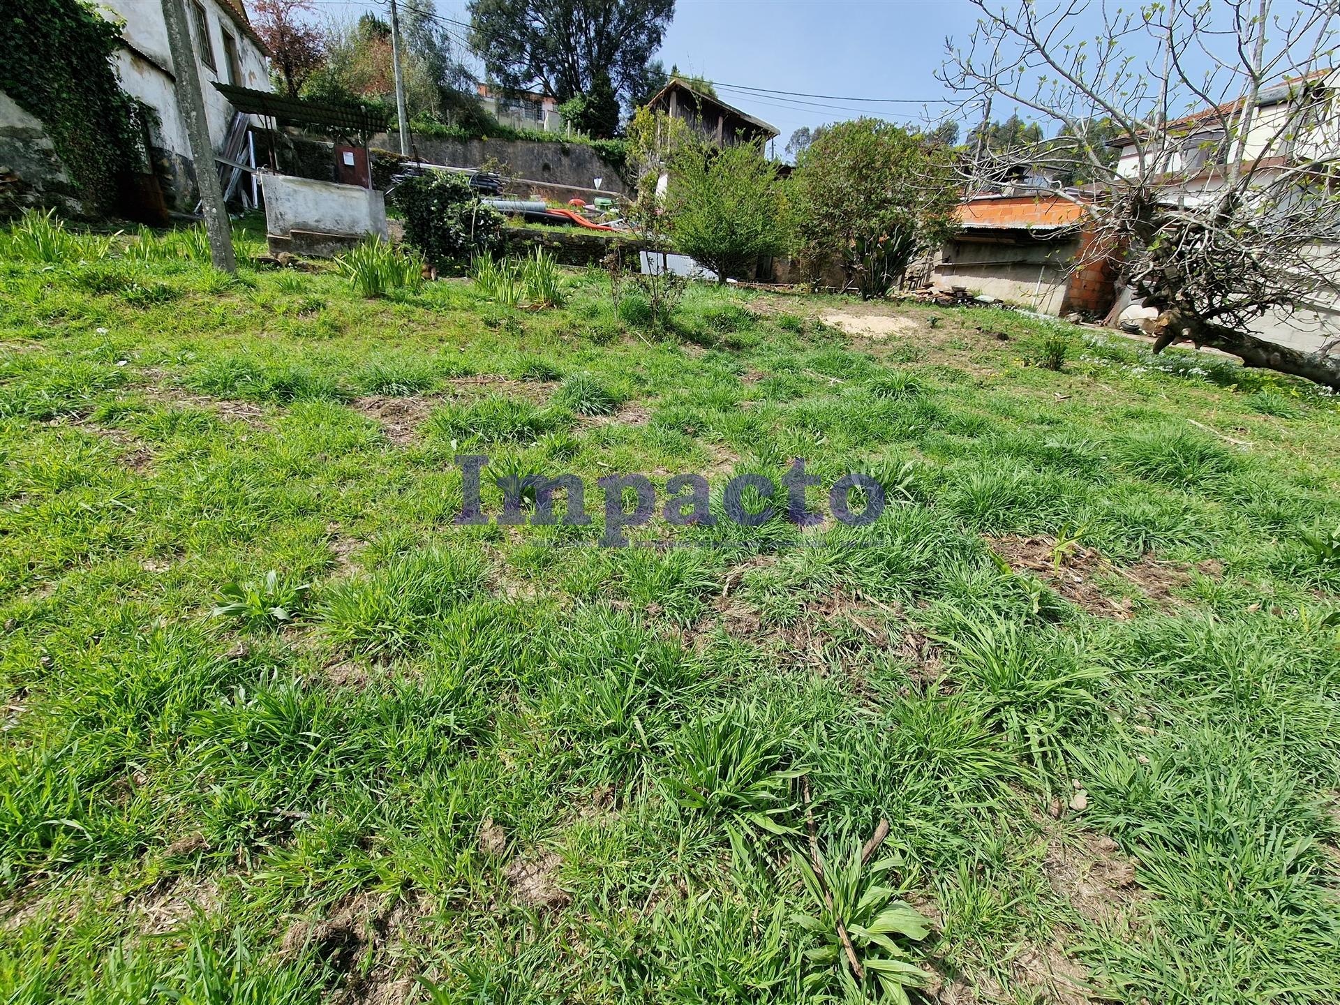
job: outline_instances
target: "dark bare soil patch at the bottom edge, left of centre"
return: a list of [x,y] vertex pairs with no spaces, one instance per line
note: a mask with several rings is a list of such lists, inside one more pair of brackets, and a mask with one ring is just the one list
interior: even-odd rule
[[346,974],[330,1001],[338,1005],[401,1005],[410,1000],[413,976],[397,973],[395,949],[417,942],[426,904],[418,895],[354,894],[322,918],[295,919],[280,942],[280,955],[296,959],[312,947],[316,957]]

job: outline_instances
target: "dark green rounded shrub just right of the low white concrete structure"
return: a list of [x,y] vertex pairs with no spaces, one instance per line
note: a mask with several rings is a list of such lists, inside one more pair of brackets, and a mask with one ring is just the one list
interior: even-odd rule
[[440,268],[493,253],[503,244],[503,214],[480,202],[464,174],[406,178],[391,202],[405,216],[405,240]]

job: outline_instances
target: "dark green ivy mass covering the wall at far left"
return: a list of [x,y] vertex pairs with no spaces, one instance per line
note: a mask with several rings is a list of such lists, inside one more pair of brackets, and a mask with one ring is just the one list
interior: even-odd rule
[[142,151],[137,103],[111,58],[118,27],[80,0],[4,0],[0,90],[39,118],[83,194],[115,206],[118,178]]

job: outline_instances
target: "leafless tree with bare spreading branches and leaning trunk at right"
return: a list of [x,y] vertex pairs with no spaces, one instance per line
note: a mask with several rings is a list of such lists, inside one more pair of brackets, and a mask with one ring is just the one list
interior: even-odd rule
[[[1097,234],[1084,255],[1119,263],[1159,310],[1155,351],[1190,339],[1340,389],[1340,356],[1249,330],[1340,302],[1340,3],[972,3],[946,82],[965,107],[1014,103],[1059,127],[1006,155],[1095,180],[1060,194]],[[977,178],[1002,177],[993,159],[978,149]]]

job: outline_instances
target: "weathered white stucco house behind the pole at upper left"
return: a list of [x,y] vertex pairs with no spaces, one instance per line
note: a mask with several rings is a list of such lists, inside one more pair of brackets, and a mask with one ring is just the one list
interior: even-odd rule
[[[99,0],[106,16],[121,21],[117,54],[121,86],[158,117],[151,137],[155,173],[169,206],[189,210],[196,202],[190,142],[177,110],[172,52],[162,0]],[[205,118],[216,151],[233,121],[233,107],[210,83],[272,90],[269,50],[247,17],[243,0],[185,0],[194,55],[201,70]],[[260,123],[255,123],[260,125]]]

